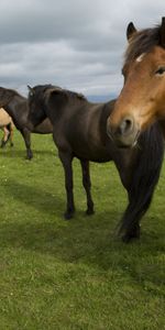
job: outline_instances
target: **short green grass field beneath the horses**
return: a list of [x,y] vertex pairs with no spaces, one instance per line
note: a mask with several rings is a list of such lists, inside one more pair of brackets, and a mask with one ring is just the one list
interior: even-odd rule
[[112,163],[91,164],[96,213],[74,161],[76,215],[63,219],[63,168],[52,136],[0,151],[0,330],[165,329],[165,168],[129,245],[114,237],[127,195]]

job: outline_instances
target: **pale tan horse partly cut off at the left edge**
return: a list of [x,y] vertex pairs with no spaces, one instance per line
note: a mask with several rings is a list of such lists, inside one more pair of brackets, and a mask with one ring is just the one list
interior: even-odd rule
[[0,129],[3,131],[1,147],[4,147],[8,141],[10,141],[10,145],[13,146],[13,128],[14,125],[11,117],[3,108],[0,108]]

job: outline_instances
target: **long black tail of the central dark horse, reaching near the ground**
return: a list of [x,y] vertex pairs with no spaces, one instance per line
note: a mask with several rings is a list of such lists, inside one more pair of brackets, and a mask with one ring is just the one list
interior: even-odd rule
[[160,178],[164,157],[164,139],[157,123],[147,129],[139,140],[140,154],[129,189],[129,205],[122,217],[119,234],[129,242],[140,235],[140,219],[150,207]]

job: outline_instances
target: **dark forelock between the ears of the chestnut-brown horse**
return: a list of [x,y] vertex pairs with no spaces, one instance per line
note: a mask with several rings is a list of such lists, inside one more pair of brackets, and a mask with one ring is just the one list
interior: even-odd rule
[[153,46],[160,44],[160,29],[161,26],[157,25],[153,29],[145,29],[133,34],[125,52],[125,64],[134,61],[143,53],[148,53]]

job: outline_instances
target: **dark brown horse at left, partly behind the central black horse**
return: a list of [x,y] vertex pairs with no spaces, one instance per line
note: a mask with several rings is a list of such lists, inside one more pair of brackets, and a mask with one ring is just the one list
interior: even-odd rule
[[16,129],[21,132],[26,146],[26,158],[31,160],[33,157],[31,132],[40,134],[53,133],[53,127],[50,120],[46,118],[38,127],[30,132],[25,125],[29,113],[28,99],[13,89],[0,87],[0,108],[3,108],[9,113]]

